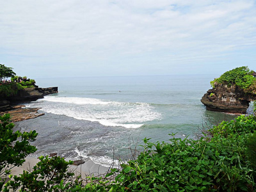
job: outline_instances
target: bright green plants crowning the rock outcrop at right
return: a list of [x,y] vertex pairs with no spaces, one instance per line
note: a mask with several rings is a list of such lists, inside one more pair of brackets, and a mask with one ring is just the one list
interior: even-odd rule
[[248,67],[237,67],[211,81],[211,86],[214,88],[215,83],[227,84],[228,86],[237,85],[246,93],[256,93],[256,78],[252,74],[253,70]]

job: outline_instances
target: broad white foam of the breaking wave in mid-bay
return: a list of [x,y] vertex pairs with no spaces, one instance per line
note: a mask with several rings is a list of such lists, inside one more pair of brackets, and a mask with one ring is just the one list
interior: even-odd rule
[[153,106],[143,102],[106,102],[100,99],[49,96],[37,104],[47,113],[113,127],[138,128],[145,122],[161,119],[161,114]]

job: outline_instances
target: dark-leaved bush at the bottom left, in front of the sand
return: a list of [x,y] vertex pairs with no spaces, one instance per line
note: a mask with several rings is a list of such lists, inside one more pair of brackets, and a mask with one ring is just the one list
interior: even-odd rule
[[72,188],[77,180],[72,180],[74,173],[68,171],[72,161],[61,157],[39,157],[40,162],[31,172],[24,171],[20,176],[15,175],[4,187],[3,191],[13,191],[21,187],[22,191],[57,191],[57,186]]

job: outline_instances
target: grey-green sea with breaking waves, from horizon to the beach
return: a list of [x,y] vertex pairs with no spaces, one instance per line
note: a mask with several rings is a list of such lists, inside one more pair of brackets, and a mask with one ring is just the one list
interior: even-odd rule
[[35,79],[40,87],[58,86],[59,93],[26,103],[45,113],[15,123],[20,131],[36,130],[33,156],[58,152],[67,159],[91,159],[109,166],[127,161],[131,148],[143,150],[143,139],[168,142],[195,138],[234,115],[206,111],[200,102],[211,88],[212,75],[63,77]]

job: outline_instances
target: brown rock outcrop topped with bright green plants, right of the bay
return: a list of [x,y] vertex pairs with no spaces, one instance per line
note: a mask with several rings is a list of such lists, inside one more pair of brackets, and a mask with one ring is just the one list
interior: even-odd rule
[[256,100],[256,77],[248,67],[237,67],[211,81],[212,89],[201,99],[210,111],[246,113]]

